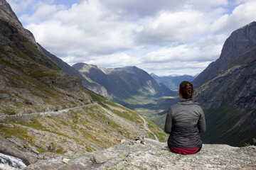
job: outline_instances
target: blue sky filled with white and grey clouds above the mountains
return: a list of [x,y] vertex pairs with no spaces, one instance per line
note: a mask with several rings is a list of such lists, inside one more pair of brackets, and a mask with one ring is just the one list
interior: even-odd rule
[[43,47],[71,66],[137,66],[195,75],[233,30],[256,21],[255,0],[7,0]]

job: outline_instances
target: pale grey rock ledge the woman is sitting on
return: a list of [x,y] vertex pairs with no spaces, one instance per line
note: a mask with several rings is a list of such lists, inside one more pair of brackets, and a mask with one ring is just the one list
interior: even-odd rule
[[[124,142],[124,141],[122,141]],[[99,162],[102,160],[102,164]],[[96,163],[96,161],[98,163]],[[28,169],[256,169],[256,147],[203,145],[191,155],[169,151],[165,142],[145,139],[74,157],[31,164]]]

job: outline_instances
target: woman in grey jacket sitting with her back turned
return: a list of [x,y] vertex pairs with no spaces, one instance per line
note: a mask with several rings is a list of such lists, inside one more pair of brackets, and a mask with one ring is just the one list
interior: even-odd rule
[[192,101],[193,85],[182,81],[181,100],[171,106],[166,115],[164,130],[170,133],[168,147],[178,154],[194,154],[202,148],[199,133],[206,132],[206,120],[201,106]]

